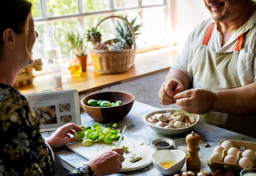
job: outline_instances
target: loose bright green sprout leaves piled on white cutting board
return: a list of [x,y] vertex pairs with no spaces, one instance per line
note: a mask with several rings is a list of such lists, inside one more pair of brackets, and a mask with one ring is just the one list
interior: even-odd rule
[[[118,129],[111,130],[110,128],[104,128],[102,130],[102,127],[100,124],[94,124],[92,128],[86,127],[86,137],[84,141],[82,142],[83,146],[90,146],[93,142],[100,142],[103,141],[104,143],[112,143],[113,140],[118,140],[117,136],[119,133]],[[101,147],[104,147],[102,145]]]

